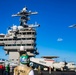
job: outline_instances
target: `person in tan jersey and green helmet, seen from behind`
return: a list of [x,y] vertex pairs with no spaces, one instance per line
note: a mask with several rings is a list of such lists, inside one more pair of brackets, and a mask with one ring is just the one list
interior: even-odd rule
[[27,66],[28,63],[28,55],[23,54],[20,57],[20,65],[14,68],[14,75],[34,75],[33,69]]

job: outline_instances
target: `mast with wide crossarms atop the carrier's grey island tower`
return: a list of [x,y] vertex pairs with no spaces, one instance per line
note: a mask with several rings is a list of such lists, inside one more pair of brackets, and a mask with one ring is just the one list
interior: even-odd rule
[[[35,15],[37,14],[38,12],[31,12],[31,11],[28,11],[27,7],[24,7],[20,12],[18,12],[17,14],[13,14],[12,17],[17,17],[19,16],[20,17],[20,25],[23,26],[23,27],[28,27],[28,20],[30,20],[30,15]],[[34,25],[34,24],[33,24]],[[32,25],[32,27],[33,27]],[[37,26],[40,26],[39,24],[35,24]]]

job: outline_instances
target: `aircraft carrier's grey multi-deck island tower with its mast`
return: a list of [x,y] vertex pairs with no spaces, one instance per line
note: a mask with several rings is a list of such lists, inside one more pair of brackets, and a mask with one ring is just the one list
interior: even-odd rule
[[27,23],[30,20],[29,16],[33,14],[37,14],[37,12],[28,11],[24,7],[20,12],[12,15],[12,17],[20,17],[20,25],[13,25],[8,28],[7,34],[0,34],[0,46],[3,46],[11,62],[18,63],[21,46],[25,48],[29,57],[39,54],[36,47],[36,27],[40,25]]

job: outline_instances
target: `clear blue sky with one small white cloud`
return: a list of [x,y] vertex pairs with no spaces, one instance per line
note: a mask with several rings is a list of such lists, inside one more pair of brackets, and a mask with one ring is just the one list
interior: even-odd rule
[[[11,17],[23,7],[37,11],[28,24],[40,24],[37,28],[37,49],[41,56],[59,56],[57,61],[76,63],[76,0],[0,0],[0,33],[7,33],[13,24],[19,25],[19,17]],[[0,58],[7,58],[0,47]]]

